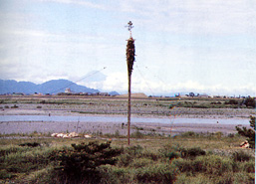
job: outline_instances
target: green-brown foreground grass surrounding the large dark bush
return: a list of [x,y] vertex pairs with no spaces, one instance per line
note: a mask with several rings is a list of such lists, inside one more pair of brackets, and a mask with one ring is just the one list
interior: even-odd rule
[[[106,139],[103,136],[97,141]],[[49,155],[71,149],[72,143],[95,140],[2,138],[0,183],[73,183],[60,177],[58,163],[50,160]],[[254,150],[239,148],[243,140],[237,135],[220,133],[186,132],[175,137],[139,134],[139,138],[134,134],[128,146],[126,139],[113,136],[112,147],[121,148],[122,154],[115,165],[98,168],[98,179],[101,183],[254,183]],[[40,146],[26,146],[34,142]]]

